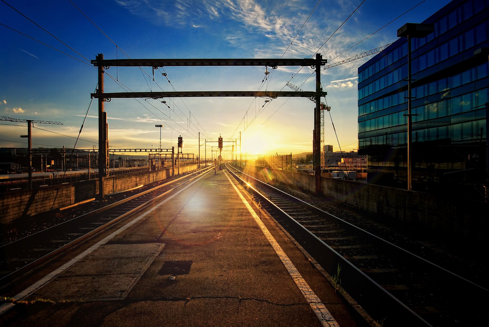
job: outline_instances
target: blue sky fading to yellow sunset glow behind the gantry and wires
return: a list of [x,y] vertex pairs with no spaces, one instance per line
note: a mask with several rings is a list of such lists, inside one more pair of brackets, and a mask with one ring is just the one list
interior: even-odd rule
[[[95,59],[98,53],[105,59],[127,58],[122,51],[131,58],[310,58],[362,1],[320,1],[287,51],[317,0],[71,0],[113,42],[69,0],[5,2],[0,2],[0,23],[79,59],[0,25],[0,115],[63,123],[34,124],[36,148],[75,145],[90,92],[97,84],[97,70],[86,59]],[[366,0],[319,52],[332,60],[419,2]],[[422,2],[330,63],[396,41],[396,31],[405,22],[422,22],[448,2]],[[321,71],[343,151],[357,147],[357,67],[369,58]],[[155,82],[151,67],[144,67],[145,72],[137,67],[111,67],[108,73],[133,91],[280,90],[292,76],[292,84],[314,90],[314,75],[307,79],[312,69],[304,67],[297,73],[299,68],[279,67],[264,85],[265,67],[164,67],[155,71]],[[167,73],[171,83],[161,72]],[[106,92],[120,91],[106,77]],[[198,153],[199,131],[201,138],[215,140],[219,134],[225,140],[239,137],[241,131],[244,153],[312,151],[314,104],[307,99],[277,98],[268,103],[248,97],[164,100],[167,104],[151,99],[107,103],[110,146],[157,148],[160,130],[155,124],[163,124],[162,148],[176,147],[182,135],[184,153]],[[97,108],[95,100],[77,148],[98,148]],[[325,118],[325,144],[333,144],[336,151],[338,142],[328,113]],[[0,123],[0,147],[26,147],[26,139],[20,138],[27,133],[25,123]]]

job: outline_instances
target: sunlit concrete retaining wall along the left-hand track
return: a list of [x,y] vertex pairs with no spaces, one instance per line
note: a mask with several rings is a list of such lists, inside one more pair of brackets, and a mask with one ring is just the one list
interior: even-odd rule
[[[197,165],[181,166],[180,174],[186,174],[196,169]],[[106,195],[111,195],[164,180],[171,175],[172,168],[166,168],[153,172],[108,176],[104,178],[104,191]],[[10,224],[18,218],[63,208],[93,198],[97,194],[98,179],[1,194],[0,225]]]

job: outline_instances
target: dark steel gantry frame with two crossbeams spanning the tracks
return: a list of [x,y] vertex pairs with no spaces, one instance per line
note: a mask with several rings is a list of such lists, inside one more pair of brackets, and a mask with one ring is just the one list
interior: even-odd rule
[[[320,151],[320,98],[326,96],[321,87],[321,66],[327,63],[321,54],[316,53],[315,58],[304,59],[104,59],[104,55],[99,53],[95,60],[90,62],[98,67],[98,89],[91,93],[92,98],[98,99],[99,107],[99,149],[107,156],[107,113],[105,112],[104,102],[112,98],[170,98],[170,97],[216,97],[216,96],[252,96],[252,97],[314,97],[316,99],[316,109],[314,110],[314,142],[315,153]],[[104,91],[104,71],[111,66],[119,67],[158,67],[164,66],[268,66],[277,68],[278,66],[310,66],[316,73],[315,92],[288,92],[288,91],[183,91],[183,92],[113,92]],[[100,155],[100,154],[99,154]],[[321,158],[316,156],[314,174],[316,175],[316,193],[321,193]],[[105,162],[99,159],[99,198],[104,197],[103,177],[106,175]]]

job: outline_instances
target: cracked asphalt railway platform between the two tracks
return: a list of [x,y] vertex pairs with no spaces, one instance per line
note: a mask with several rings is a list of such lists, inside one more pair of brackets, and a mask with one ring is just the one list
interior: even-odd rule
[[201,174],[11,295],[42,300],[2,305],[0,325],[356,326],[321,272],[250,203],[227,172]]

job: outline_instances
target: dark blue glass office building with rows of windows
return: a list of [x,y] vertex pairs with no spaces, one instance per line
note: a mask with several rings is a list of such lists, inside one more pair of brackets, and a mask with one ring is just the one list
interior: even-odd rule
[[[411,44],[413,190],[484,198],[488,56],[474,51],[489,46],[489,0],[454,0],[423,23],[434,32]],[[358,68],[369,183],[406,187],[407,49],[400,38]]]

